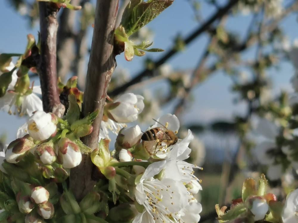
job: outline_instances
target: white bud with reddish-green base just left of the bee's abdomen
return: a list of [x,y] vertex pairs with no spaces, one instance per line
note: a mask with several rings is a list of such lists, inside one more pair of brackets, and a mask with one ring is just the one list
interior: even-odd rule
[[142,137],[142,131],[139,125],[124,128],[121,134],[123,135],[122,145],[127,145],[125,146],[126,148],[131,148],[136,145]]

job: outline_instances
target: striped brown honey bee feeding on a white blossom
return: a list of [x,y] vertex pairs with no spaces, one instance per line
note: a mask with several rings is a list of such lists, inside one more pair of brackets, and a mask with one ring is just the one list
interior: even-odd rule
[[[158,122],[157,120],[153,120],[162,125],[162,123]],[[145,131],[141,139],[144,142],[156,142],[153,155],[156,154],[156,148],[158,146],[161,146],[162,142],[164,142],[166,147],[168,147],[170,145],[174,145],[178,141],[178,137],[176,136],[176,134],[173,131],[168,130],[167,127],[164,125],[162,125],[162,127],[150,128],[149,130]]]

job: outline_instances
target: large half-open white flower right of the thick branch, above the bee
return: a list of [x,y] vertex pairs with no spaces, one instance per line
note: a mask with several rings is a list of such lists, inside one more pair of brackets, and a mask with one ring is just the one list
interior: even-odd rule
[[119,123],[128,123],[137,120],[138,114],[144,109],[144,98],[141,95],[126,93],[121,95],[114,103],[119,105],[109,110],[111,116]]

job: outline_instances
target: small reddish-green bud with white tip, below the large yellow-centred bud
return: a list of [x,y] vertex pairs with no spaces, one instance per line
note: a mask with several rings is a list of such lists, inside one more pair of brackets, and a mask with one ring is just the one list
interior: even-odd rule
[[41,160],[43,164],[51,165],[57,160],[56,153],[54,151],[54,143],[49,141],[39,145],[35,150],[35,156]]

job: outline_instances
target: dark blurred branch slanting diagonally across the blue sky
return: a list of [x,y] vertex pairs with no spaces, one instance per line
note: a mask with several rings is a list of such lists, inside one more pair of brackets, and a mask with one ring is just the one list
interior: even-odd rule
[[[198,27],[193,33],[191,33],[188,37],[184,39],[185,45],[191,43],[193,40],[195,40],[196,37],[198,37],[200,34],[204,33],[205,31],[209,30],[209,27],[212,25],[214,21],[217,19],[223,17],[239,0],[230,0],[228,4],[226,4],[224,7],[219,9],[215,14],[213,14],[205,23],[203,23],[201,26]],[[164,64],[168,59],[170,59],[173,55],[175,55],[177,52],[175,49],[175,45],[167,51],[168,53],[165,54],[162,58],[154,62],[154,69],[158,68],[160,65]],[[123,84],[122,86],[118,87],[117,89],[114,89],[112,92],[109,92],[109,96],[115,96],[118,95],[121,92],[124,92],[128,87],[130,87],[133,84],[136,84],[143,80],[143,78],[148,76],[153,76],[153,70],[144,70],[138,75],[136,75],[131,81]]]

